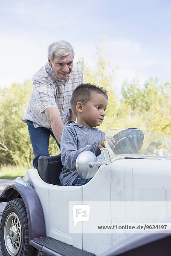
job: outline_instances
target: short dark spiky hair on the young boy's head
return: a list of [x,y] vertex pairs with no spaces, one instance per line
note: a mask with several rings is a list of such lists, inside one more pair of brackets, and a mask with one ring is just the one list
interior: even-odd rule
[[93,93],[103,94],[107,99],[107,90],[94,84],[80,84],[78,85],[72,93],[71,97],[71,110],[74,115],[76,115],[76,105],[77,102],[86,104],[93,96]]

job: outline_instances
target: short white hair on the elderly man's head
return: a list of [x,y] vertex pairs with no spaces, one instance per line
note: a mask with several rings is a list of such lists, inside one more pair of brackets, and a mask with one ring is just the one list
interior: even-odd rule
[[63,57],[70,54],[71,52],[74,58],[74,49],[72,45],[67,41],[61,40],[49,45],[47,50],[47,56],[50,61],[53,61],[55,56]]

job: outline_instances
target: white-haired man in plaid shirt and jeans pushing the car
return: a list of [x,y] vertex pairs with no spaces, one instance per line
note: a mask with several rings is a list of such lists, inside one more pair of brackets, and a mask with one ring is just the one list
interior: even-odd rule
[[38,158],[49,156],[49,136],[60,144],[61,132],[74,122],[70,107],[72,92],[83,83],[83,73],[73,64],[74,50],[66,41],[57,41],[48,48],[48,62],[33,76],[33,90],[23,122],[27,122],[38,168]]

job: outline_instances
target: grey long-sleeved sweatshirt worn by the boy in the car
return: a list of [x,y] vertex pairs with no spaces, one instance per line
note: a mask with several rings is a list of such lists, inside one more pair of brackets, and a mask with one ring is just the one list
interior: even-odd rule
[[101,154],[99,142],[104,139],[104,132],[98,128],[71,123],[61,134],[61,160],[63,169],[60,174],[62,186],[71,186],[78,175],[75,162],[82,151],[92,151],[96,156]]

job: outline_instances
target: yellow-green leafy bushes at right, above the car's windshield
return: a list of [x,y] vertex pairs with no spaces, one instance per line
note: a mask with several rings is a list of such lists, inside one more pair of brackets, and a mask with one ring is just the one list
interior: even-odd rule
[[[125,81],[120,102],[122,117],[129,121],[137,119],[138,128],[171,137],[171,87],[168,85],[168,82],[158,85],[152,78],[145,81],[143,87],[138,81],[129,84]],[[124,115],[126,108],[128,111]]]

